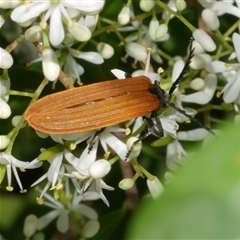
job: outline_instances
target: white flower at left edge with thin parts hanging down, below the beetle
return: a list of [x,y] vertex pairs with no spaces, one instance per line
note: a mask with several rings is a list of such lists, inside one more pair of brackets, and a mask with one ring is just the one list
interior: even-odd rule
[[12,184],[12,171],[15,175],[16,181],[18,183],[18,186],[21,189],[21,192],[25,192],[26,190],[23,189],[21,180],[18,176],[17,168],[20,168],[21,171],[25,171],[25,169],[33,169],[33,168],[39,168],[42,166],[42,163],[39,162],[37,159],[34,159],[31,162],[23,162],[12,155],[6,154],[4,152],[0,153],[0,163],[6,167],[7,170],[7,178],[8,178],[8,186],[7,190],[12,191],[13,187]]

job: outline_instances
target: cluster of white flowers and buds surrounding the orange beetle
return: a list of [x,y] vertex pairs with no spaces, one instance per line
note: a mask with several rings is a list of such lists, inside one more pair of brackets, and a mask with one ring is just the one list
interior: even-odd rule
[[[98,214],[84,201],[101,199],[107,206],[111,205],[105,190],[116,188],[108,185],[108,179],[114,174],[112,169],[117,161],[123,175],[120,189],[133,189],[136,180],[145,177],[146,187],[157,198],[164,191],[159,178],[169,182],[179,165],[186,164],[189,152],[183,142],[202,141],[206,145],[218,132],[210,129],[224,120],[212,117],[212,109],[231,111],[236,122],[239,121],[240,3],[199,0],[194,4],[196,11],[202,9],[195,26],[187,19],[188,14],[185,15],[191,13],[185,0],[0,2],[1,36],[9,42],[0,47],[0,119],[1,126],[6,126],[0,133],[0,180],[6,178],[6,189],[13,191],[14,175],[23,193],[26,189],[17,168],[24,172],[44,166],[44,173],[30,185],[41,185],[37,202],[53,209],[40,218],[33,215],[26,218],[26,237],[33,236],[36,230],[42,231],[53,219],[57,219],[57,229],[62,233],[69,231],[70,223],[77,220],[81,222],[81,237],[94,236],[100,229]],[[228,24],[226,14],[231,14],[233,19],[227,30],[222,26]],[[176,23],[182,24],[180,36],[174,33]],[[16,29],[14,34],[12,26]],[[179,42],[189,36],[190,47],[183,43],[184,50],[178,51]],[[39,146],[38,153],[26,147],[27,141],[37,137],[25,121],[26,101],[19,99],[28,97],[31,105],[45,94],[48,82],[54,88],[63,85],[68,89],[89,83],[87,79],[96,82],[99,78],[109,78],[111,72],[120,79],[116,81],[124,81],[128,75],[124,68],[132,69],[132,77],[144,75],[152,85],[159,85],[163,96],[153,115],[129,119],[125,127],[116,121],[104,129],[92,128],[79,133],[36,132],[42,143],[48,137],[48,144],[52,145]],[[26,79],[21,77],[23,72],[27,72]],[[30,80],[32,74],[36,74],[36,79],[42,76],[37,87],[36,81]],[[32,93],[29,89],[33,85]],[[86,100],[85,104],[94,101]],[[166,108],[162,107],[164,104]],[[76,104],[70,106],[74,107]],[[197,113],[203,113],[201,120],[196,120]],[[188,128],[185,123],[189,119],[199,126]],[[22,137],[23,131],[26,138]],[[150,134],[156,139],[151,151],[142,142]],[[19,144],[22,145],[16,146]],[[142,159],[144,162],[142,156],[160,160],[163,146],[168,168],[165,178],[157,172],[151,174],[140,163]],[[24,159],[17,159],[22,154],[17,151],[15,154],[15,147],[24,152]],[[32,154],[34,160],[27,161]],[[135,194],[138,195],[137,191]]]

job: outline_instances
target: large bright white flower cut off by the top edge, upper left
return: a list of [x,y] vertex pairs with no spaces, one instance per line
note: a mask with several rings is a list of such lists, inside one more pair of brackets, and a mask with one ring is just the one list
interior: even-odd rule
[[52,45],[58,46],[63,41],[65,35],[62,17],[65,17],[68,21],[71,21],[67,8],[79,10],[83,14],[95,14],[103,8],[103,5],[104,0],[82,0],[80,4],[78,0],[60,0],[57,4],[50,0],[31,1],[15,8],[12,11],[11,18],[17,23],[25,23],[31,19],[39,17],[42,13],[44,13],[42,21],[46,22],[48,19],[50,19],[50,42]]

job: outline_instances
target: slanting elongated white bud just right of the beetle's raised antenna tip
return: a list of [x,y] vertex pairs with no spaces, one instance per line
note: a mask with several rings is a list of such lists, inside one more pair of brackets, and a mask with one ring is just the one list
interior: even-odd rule
[[193,31],[193,37],[206,51],[213,52],[216,49],[216,45],[212,38],[202,29],[196,29]]

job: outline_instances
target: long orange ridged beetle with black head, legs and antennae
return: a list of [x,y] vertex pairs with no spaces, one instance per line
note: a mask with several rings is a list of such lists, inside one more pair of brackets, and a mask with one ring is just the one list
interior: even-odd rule
[[[172,93],[191,63],[193,53],[191,41],[185,66],[168,92],[161,89],[158,81],[152,84],[146,76],[94,83],[39,99],[28,107],[25,119],[31,127],[40,132],[68,134],[101,129],[143,116],[147,129],[139,140],[134,142],[127,157],[133,146],[150,133],[163,137],[161,121],[156,113],[160,108],[172,107],[212,133],[200,121],[170,102]],[[154,128],[152,119],[146,117],[150,113],[156,120],[157,128]]]

